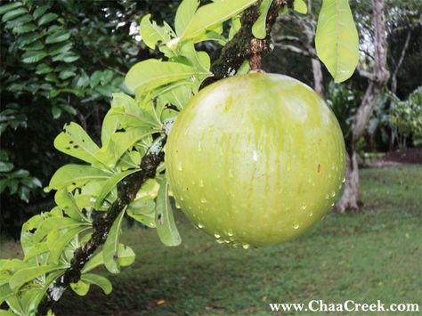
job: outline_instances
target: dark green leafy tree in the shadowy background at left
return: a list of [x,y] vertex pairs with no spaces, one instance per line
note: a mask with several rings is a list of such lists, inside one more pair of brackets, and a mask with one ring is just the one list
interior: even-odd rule
[[105,105],[112,93],[126,91],[122,85],[126,71],[135,61],[156,54],[140,42],[134,20],[143,12],[166,19],[175,3],[2,3],[3,233],[16,237],[28,217],[53,205],[53,197],[46,195],[42,186],[54,170],[69,161],[53,149],[55,134],[76,117],[95,142],[99,141]]

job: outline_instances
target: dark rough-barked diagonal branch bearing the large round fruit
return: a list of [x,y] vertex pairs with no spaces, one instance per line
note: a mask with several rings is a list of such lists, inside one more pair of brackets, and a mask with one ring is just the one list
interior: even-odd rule
[[[267,15],[266,30],[268,36],[264,40],[258,40],[252,35],[252,25],[259,16],[259,4],[253,5],[245,11],[240,20],[242,23],[239,32],[232,40],[223,47],[221,56],[212,65],[211,71],[215,74],[211,80],[202,85],[206,86],[223,77],[228,77],[239,69],[240,65],[246,59],[255,62],[255,67],[260,67],[261,55],[271,51],[270,31],[272,24],[277,19],[281,6],[286,5],[286,0],[273,0],[272,6]],[[110,206],[109,210],[97,217],[93,221],[93,235],[88,242],[75,250],[74,256],[70,262],[70,267],[64,272],[63,276],[55,280],[48,289],[45,299],[38,306],[38,315],[45,315],[53,305],[61,298],[70,283],[80,280],[81,271],[85,263],[89,261],[95,250],[100,247],[110,231],[118,215],[135,198],[142,184],[150,178],[154,178],[156,170],[161,162],[164,161],[163,148],[166,144],[166,137],[163,137],[156,145],[152,146],[147,154],[142,158],[141,170],[137,173],[128,175],[124,181],[118,184],[118,199]]]

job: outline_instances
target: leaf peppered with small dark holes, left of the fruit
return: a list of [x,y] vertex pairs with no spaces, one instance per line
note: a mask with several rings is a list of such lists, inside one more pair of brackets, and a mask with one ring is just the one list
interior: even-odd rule
[[90,164],[98,162],[94,153],[99,150],[84,129],[72,122],[54,140],[54,147],[69,156],[79,158]]

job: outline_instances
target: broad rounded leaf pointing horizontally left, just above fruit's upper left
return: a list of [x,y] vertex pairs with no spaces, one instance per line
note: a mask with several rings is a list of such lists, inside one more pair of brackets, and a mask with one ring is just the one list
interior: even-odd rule
[[138,62],[129,69],[125,83],[136,93],[143,93],[158,88],[160,85],[198,75],[210,75],[210,73],[200,72],[178,62],[150,59]]

